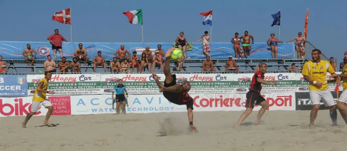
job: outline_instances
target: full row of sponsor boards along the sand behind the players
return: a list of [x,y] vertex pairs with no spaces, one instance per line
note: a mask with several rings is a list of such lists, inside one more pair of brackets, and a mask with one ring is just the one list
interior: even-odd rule
[[[252,76],[253,73],[177,74],[177,82],[191,83],[194,111],[240,111],[245,109],[245,95]],[[163,82],[164,75],[158,74],[158,77]],[[42,78],[43,74],[0,75],[0,116],[26,115]],[[330,75],[326,78],[330,79]],[[111,94],[119,79],[124,81],[129,93],[127,113],[186,111],[186,106],[172,104],[158,92],[149,73],[53,74],[49,90],[54,90],[56,94],[47,95],[54,105],[53,115],[114,113]],[[301,73],[266,73],[265,80],[280,82],[274,86],[263,85],[262,95],[270,104],[269,110],[311,109],[308,82],[303,80]],[[335,86],[335,83],[329,83],[329,90],[336,99]],[[342,86],[339,91],[342,91]],[[259,109],[259,106],[254,108]],[[37,114],[45,115],[46,112],[41,108]]]

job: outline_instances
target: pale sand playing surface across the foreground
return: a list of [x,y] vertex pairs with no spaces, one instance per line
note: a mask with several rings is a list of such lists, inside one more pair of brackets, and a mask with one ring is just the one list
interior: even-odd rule
[[241,113],[195,112],[198,134],[188,131],[186,112],[52,116],[57,127],[35,127],[44,117],[34,116],[25,129],[24,116],[2,117],[0,150],[347,150],[347,126],[338,115],[331,127],[327,110],[313,129],[309,111],[269,111],[257,126],[249,125],[254,111],[247,126],[232,128]]

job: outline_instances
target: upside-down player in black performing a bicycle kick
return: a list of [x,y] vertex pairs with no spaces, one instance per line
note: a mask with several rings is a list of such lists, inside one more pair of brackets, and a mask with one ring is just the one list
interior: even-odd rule
[[182,85],[176,83],[176,74],[171,74],[170,72],[170,55],[175,48],[170,48],[165,54],[165,66],[164,74],[165,80],[164,85],[162,85],[158,80],[158,75],[153,74],[153,79],[160,88],[159,92],[162,92],[164,97],[177,105],[186,105],[188,110],[188,120],[192,132],[198,132],[197,127],[193,125],[193,103],[194,100],[189,96],[188,92],[191,89],[191,84],[189,82],[184,82]]

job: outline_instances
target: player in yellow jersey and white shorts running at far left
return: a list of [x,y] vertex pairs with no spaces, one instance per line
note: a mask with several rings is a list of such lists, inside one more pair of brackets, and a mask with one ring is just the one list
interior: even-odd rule
[[31,111],[25,117],[25,120],[23,122],[23,128],[26,128],[27,122],[39,110],[41,105],[43,105],[45,108],[48,109],[47,114],[46,114],[46,118],[45,118],[45,121],[43,122],[43,124],[46,126],[49,126],[49,127],[54,126],[54,125],[48,123],[48,119],[49,119],[49,117],[51,117],[51,114],[53,112],[53,105],[48,99],[46,99],[46,93],[54,94],[53,91],[47,91],[48,81],[51,79],[51,77],[52,77],[51,72],[45,72],[45,78],[42,79],[37,84],[37,88],[36,88],[34,96],[33,96],[33,103],[31,105]]

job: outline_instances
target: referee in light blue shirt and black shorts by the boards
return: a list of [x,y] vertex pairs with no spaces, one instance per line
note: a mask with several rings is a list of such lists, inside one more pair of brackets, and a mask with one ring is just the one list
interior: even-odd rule
[[114,98],[114,92],[112,92],[112,99],[113,100],[113,103],[112,103],[112,108],[114,108],[114,104],[115,102],[117,103],[117,106],[116,106],[116,114],[119,114],[119,108],[121,106],[121,102],[122,102],[122,113],[125,114],[125,105],[126,105],[126,99],[125,99],[125,96],[124,96],[124,92],[125,94],[127,95],[127,98],[128,98],[128,92],[127,92],[127,89],[125,88],[125,86],[123,85],[123,81],[120,79],[118,81],[118,85],[116,85],[114,88],[113,88],[116,92],[116,98]]

